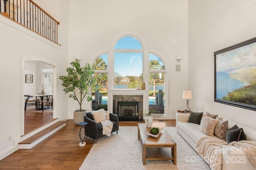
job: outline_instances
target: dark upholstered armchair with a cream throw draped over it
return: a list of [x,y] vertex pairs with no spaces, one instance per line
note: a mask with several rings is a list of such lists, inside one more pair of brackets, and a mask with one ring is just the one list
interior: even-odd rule
[[[119,122],[118,122],[118,115],[115,115],[113,113],[109,113],[110,121],[113,123],[113,129],[111,131],[118,134],[119,130]],[[105,135],[102,134],[102,124],[96,123],[93,119],[92,112],[88,112],[84,115],[84,121],[88,124],[86,125],[86,136],[92,138],[95,140],[95,143],[97,143],[97,139],[104,137]]]

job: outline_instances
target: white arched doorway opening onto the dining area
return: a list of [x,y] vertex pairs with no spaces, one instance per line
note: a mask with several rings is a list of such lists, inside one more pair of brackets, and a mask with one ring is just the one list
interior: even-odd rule
[[[25,103],[22,102],[22,107],[21,107],[21,134],[22,135],[26,135],[27,133],[30,133],[40,127],[42,127],[43,125],[46,125],[47,123],[50,123],[51,121],[53,121],[54,119],[56,119],[58,117],[58,107],[57,106],[57,90],[56,90],[56,85],[57,85],[57,74],[56,74],[56,66],[54,64],[50,64],[50,62],[45,61],[43,59],[22,59],[22,64],[21,64],[21,77],[24,77],[24,75],[26,74],[30,74],[33,75],[33,81],[32,83],[28,84],[26,83],[25,78],[22,78],[21,80],[21,84],[22,84],[22,100],[24,101],[24,95],[30,95],[30,94],[37,94],[40,93],[42,90],[42,83],[45,81],[42,76],[46,75],[46,72],[44,70],[46,70],[45,68],[47,68],[48,70],[52,70],[52,72],[49,75],[50,79],[51,79],[51,93],[53,94],[53,98],[54,98],[54,109],[52,109],[52,113],[50,114],[50,116],[52,117],[52,119],[50,119],[51,117],[48,117],[48,120],[42,122],[41,120],[41,116],[43,116],[42,113],[40,114],[35,114],[36,116],[34,116],[32,119],[30,117],[28,122],[28,119],[25,119],[26,114],[24,112],[24,106]],[[54,95],[55,94],[55,95]],[[36,109],[35,109],[36,111]],[[33,114],[31,113],[31,115],[33,116]],[[44,115],[45,116],[45,115]],[[49,121],[49,122],[48,122]],[[39,122],[39,123],[38,123]],[[40,122],[42,122],[40,124]],[[31,124],[35,123],[34,125],[31,126]],[[37,123],[37,124],[36,124]],[[30,124],[30,128],[29,129],[25,129],[25,127],[28,127],[28,124]]]

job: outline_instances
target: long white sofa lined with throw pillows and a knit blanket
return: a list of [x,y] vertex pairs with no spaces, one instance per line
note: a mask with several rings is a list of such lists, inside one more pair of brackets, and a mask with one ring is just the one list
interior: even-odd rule
[[[187,113],[176,114],[176,130],[189,143],[189,145],[194,150],[196,150],[197,141],[200,140],[202,137],[207,137],[207,135],[199,130],[200,125],[195,123],[188,123],[189,115],[190,114]],[[204,116],[205,113],[203,113],[202,118]],[[228,120],[225,117],[221,118],[223,121]],[[251,129],[249,127],[246,127],[245,125],[241,125],[239,123],[228,120],[228,129],[230,129],[234,125],[238,125],[239,128],[243,128],[243,131],[247,136],[246,140],[256,141],[256,129]],[[218,138],[215,135],[213,137]],[[222,152],[221,166],[222,170],[256,170],[246,154],[241,152],[238,147],[223,145],[223,150],[224,152]]]

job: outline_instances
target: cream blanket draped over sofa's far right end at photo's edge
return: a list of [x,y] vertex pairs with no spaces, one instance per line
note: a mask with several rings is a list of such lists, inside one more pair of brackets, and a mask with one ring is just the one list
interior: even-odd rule
[[246,153],[253,166],[256,168],[256,141],[234,141],[228,145],[234,145]]

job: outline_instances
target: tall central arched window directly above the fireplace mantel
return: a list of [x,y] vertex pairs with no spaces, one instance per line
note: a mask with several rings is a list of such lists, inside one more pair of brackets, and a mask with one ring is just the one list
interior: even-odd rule
[[138,39],[120,38],[114,47],[114,88],[136,88],[143,73],[143,48]]

